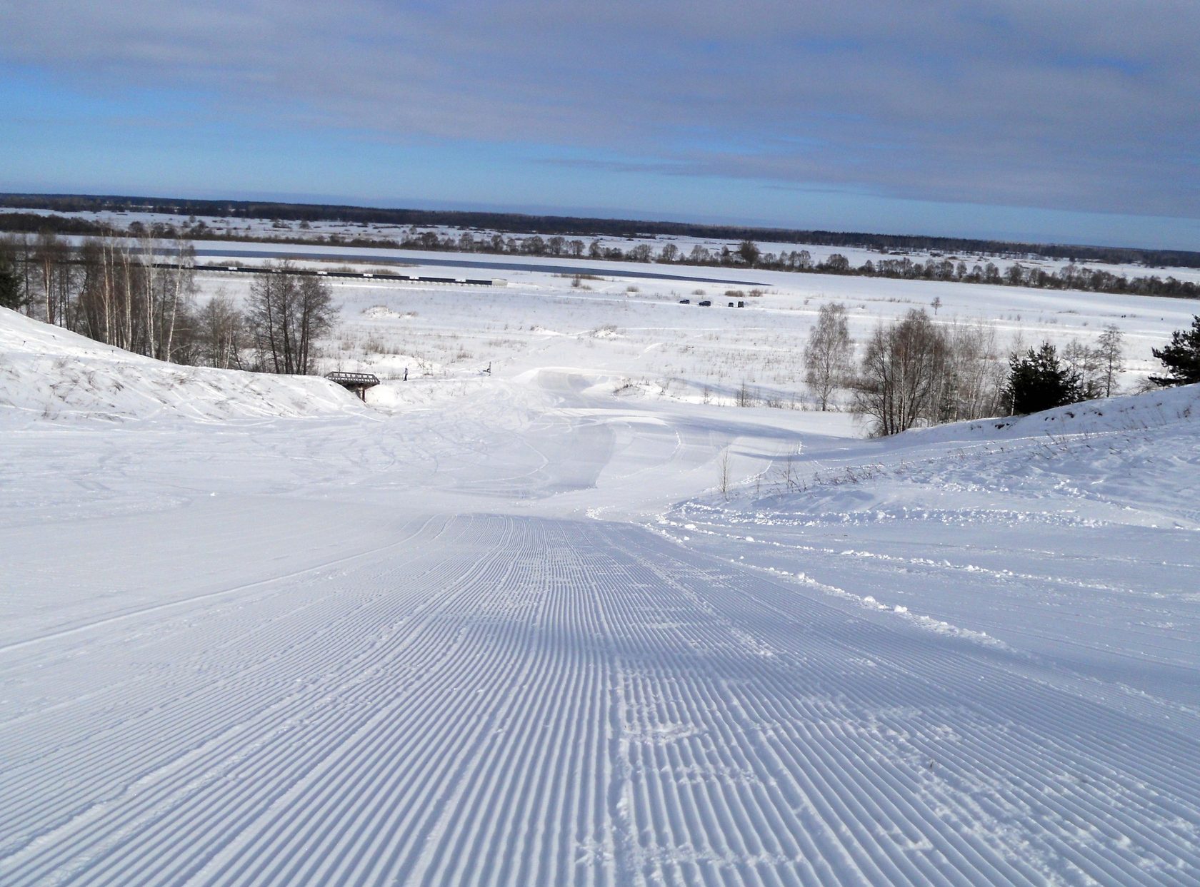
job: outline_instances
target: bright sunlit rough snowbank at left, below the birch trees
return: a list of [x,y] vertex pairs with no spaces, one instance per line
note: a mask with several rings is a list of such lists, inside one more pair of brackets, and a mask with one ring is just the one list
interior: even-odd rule
[[319,376],[181,367],[0,308],[0,416],[199,421],[358,412]]

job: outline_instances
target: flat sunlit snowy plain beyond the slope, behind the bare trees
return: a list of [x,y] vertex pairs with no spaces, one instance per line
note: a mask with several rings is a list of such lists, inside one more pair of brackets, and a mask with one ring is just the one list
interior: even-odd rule
[[[247,253],[262,245],[210,242],[239,265],[260,264]],[[340,267],[347,255],[374,255],[379,265],[402,261],[400,273],[445,277],[444,266],[422,260],[479,255],[356,249],[328,246],[281,247],[281,254],[310,257],[310,267]],[[242,257],[242,258],[239,258]],[[312,257],[326,257],[324,261]],[[848,309],[851,334],[863,342],[881,321],[912,308],[935,314],[938,322],[988,324],[995,328],[1001,356],[1043,340],[1064,345],[1072,339],[1093,346],[1108,325],[1124,337],[1126,372],[1121,384],[1133,390],[1147,373],[1158,372],[1151,349],[1170,339],[1172,330],[1190,325],[1196,303],[1181,298],[1122,297],[1094,292],[1052,292],[1014,286],[869,279],[824,274],[694,268],[728,284],[647,280],[630,271],[686,273],[686,267],[589,263],[590,278],[572,286],[569,274],[527,267],[563,265],[563,259],[484,257],[510,266],[487,277],[505,286],[462,288],[361,284],[334,280],[341,325],[330,343],[328,369],[362,369],[382,379],[478,379],[493,366],[508,375],[547,366],[586,367],[601,372],[613,387],[631,385],[658,396],[707,403],[733,403],[743,382],[762,400],[803,404],[800,352],[817,312],[826,302]],[[220,261],[220,259],[212,259]],[[476,272],[478,274],[479,272]],[[736,280],[750,279],[760,286]],[[218,289],[244,297],[248,276],[202,272],[202,300]],[[752,290],[761,296],[751,296]],[[727,295],[731,294],[731,295]],[[679,301],[690,300],[690,304]],[[709,300],[712,307],[697,302]],[[937,300],[936,309],[932,306]],[[730,308],[730,302],[745,308]],[[707,391],[707,394],[706,394]],[[378,397],[396,396],[377,392]],[[403,397],[414,397],[412,386]]]

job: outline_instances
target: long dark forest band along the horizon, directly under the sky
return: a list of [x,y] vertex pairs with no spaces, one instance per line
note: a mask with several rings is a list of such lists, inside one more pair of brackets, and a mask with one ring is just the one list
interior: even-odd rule
[[[0,194],[0,206],[55,212],[157,212],[175,216],[262,218],[288,222],[348,222],[389,225],[443,225],[512,234],[564,236],[638,237],[671,235],[712,240],[751,240],[775,243],[805,243],[821,247],[862,249],[974,253],[1007,258],[1045,257],[1076,263],[1142,264],[1170,267],[1200,267],[1200,253],[1182,249],[1134,249],[1127,247],[1072,246],[1062,243],[1019,243],[970,237],[932,237],[908,234],[865,234],[859,231],[809,231],[784,228],[706,225],[683,222],[646,222],[620,218],[575,216],[529,216],[515,212],[463,212],[454,210],[390,210],[324,204],[280,204],[259,200],[182,200],[176,198],[116,197],[88,194]],[[14,229],[5,222],[7,230]],[[60,229],[61,233],[68,233]],[[86,234],[92,231],[70,231]]]

